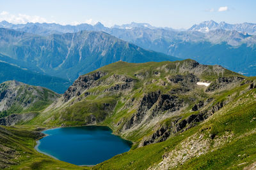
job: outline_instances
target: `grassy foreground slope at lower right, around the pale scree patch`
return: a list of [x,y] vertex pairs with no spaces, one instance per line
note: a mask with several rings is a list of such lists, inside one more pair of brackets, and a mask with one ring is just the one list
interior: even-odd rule
[[[243,90],[243,87],[235,90],[240,92],[240,90]],[[225,94],[220,97],[225,97]],[[117,155],[94,168],[120,169],[125,167],[125,169],[147,169],[161,162],[164,153],[174,150],[178,143],[195,133],[207,134],[207,138],[209,138],[209,134],[213,133],[216,136],[221,136],[225,132],[232,132],[234,134],[229,143],[225,143],[218,150],[194,157],[185,162],[185,164],[180,164],[175,169],[227,169],[230,167],[232,169],[241,169],[249,166],[256,161],[255,98],[256,89],[250,90],[238,96],[234,103],[230,103],[223,110],[218,111],[208,122],[182,132],[163,143],[144,146],[122,155]],[[210,130],[209,127],[211,127]],[[212,149],[214,149],[213,146]]]

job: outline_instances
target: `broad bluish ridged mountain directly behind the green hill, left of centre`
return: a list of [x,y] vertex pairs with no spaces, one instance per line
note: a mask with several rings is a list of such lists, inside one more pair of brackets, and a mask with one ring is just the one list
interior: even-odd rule
[[68,80],[76,80],[81,74],[118,60],[178,60],[177,57],[144,50],[105,32],[95,31],[38,36],[1,28],[0,53],[7,56],[0,58],[5,62],[18,66],[20,62],[32,71]]

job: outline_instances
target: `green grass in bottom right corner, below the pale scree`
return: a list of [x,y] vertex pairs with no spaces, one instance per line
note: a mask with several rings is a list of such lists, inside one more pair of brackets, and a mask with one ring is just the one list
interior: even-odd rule
[[218,150],[190,159],[177,169],[243,169],[256,161],[255,139],[256,134],[235,139]]

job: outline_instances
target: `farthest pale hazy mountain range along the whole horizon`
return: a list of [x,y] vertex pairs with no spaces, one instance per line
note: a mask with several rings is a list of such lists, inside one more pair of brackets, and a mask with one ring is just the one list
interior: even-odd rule
[[216,29],[223,29],[226,31],[237,31],[248,34],[256,34],[256,24],[244,22],[243,24],[228,24],[226,22],[214,22],[213,20],[204,21],[200,24],[195,24],[189,29],[172,29],[171,27],[154,27],[148,23],[136,23],[123,25],[113,25],[112,27],[105,27],[100,22],[95,25],[79,24],[79,25],[60,25],[60,24],[48,24],[48,23],[27,23],[27,24],[12,24],[5,20],[0,22],[0,27],[15,29],[17,31],[24,31],[40,35],[50,35],[67,32],[78,31],[106,31],[111,29],[133,29],[133,28],[148,28],[148,29],[166,29],[171,31],[200,31],[209,32]]

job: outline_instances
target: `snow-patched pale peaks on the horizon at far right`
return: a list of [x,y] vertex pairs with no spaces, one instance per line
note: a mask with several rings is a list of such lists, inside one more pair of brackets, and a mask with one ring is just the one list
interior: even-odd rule
[[188,31],[200,31],[209,32],[216,29],[223,29],[226,31],[238,31],[248,34],[256,34],[256,24],[244,22],[243,24],[227,24],[226,22],[214,22],[213,20],[201,22],[200,24],[195,24]]

